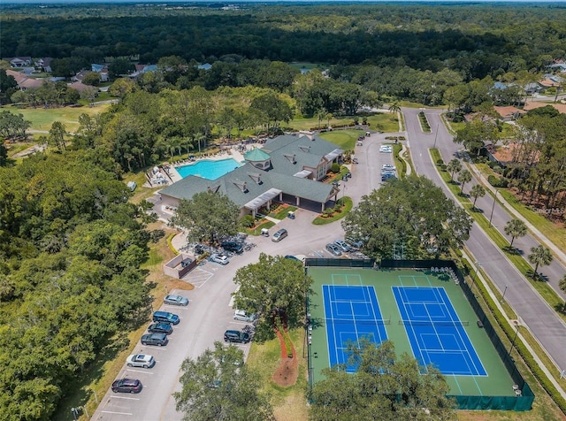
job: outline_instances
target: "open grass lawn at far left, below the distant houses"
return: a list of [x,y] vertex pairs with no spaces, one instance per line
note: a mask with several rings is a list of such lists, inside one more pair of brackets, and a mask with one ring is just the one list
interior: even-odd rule
[[49,131],[54,121],[65,124],[67,132],[74,132],[79,128],[80,114],[90,116],[106,111],[110,104],[104,103],[95,107],[61,107],[61,108],[17,108],[13,105],[2,107],[3,111],[22,114],[24,119],[31,121],[31,130]]

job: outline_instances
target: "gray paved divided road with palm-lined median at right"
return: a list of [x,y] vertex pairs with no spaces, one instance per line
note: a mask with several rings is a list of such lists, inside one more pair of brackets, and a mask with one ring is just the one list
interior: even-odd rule
[[[411,157],[413,157],[417,167],[417,173],[434,181],[435,184],[444,189],[448,196],[451,196],[451,193],[440,179],[438,172],[436,172],[428,153],[428,149],[432,148],[435,139],[436,146],[440,149],[445,162],[455,157],[456,152],[460,149],[460,145],[452,142],[452,135],[440,123],[441,111],[424,111],[433,132],[438,128],[438,133],[432,134],[422,133],[417,116],[419,110],[403,109],[402,111],[405,115]],[[464,187],[464,191],[469,191],[472,185],[472,183],[468,183]],[[483,199],[478,199],[477,206],[479,209],[491,214],[493,198],[487,196]],[[493,208],[493,225],[502,232],[509,219],[507,212],[496,203]],[[513,245],[523,249],[524,253],[528,254],[532,245],[538,245],[538,242],[532,236],[527,235],[522,239],[516,239]],[[509,302],[519,317],[523,319],[524,325],[529,327],[533,335],[547,349],[548,354],[552,356],[555,363],[562,369],[566,368],[566,352],[564,352],[566,324],[556,315],[555,310],[551,309],[547,302],[540,298],[527,279],[524,279],[523,275],[516,270],[515,266],[509,262],[506,256],[501,253],[501,250],[493,244],[476,224],[472,228],[470,240],[466,242],[466,246],[481,264],[483,270],[500,289],[501,293],[506,291],[505,300]],[[557,286],[558,279],[562,278],[566,272],[562,264],[558,262],[554,262],[540,271],[547,276],[553,286]]]

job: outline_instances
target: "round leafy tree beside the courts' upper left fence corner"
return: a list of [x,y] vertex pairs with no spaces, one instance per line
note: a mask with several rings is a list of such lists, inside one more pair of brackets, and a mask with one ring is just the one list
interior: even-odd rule
[[236,307],[259,313],[271,329],[275,317],[288,325],[302,323],[304,300],[312,283],[302,264],[261,253],[256,264],[236,271],[233,282],[238,286],[233,294]]

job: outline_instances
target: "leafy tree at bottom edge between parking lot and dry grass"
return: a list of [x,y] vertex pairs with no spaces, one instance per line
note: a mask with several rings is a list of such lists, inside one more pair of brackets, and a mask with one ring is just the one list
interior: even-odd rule
[[233,345],[214,342],[195,360],[181,365],[181,391],[173,397],[185,420],[273,420],[269,396],[261,391],[259,375],[243,364],[244,354]]

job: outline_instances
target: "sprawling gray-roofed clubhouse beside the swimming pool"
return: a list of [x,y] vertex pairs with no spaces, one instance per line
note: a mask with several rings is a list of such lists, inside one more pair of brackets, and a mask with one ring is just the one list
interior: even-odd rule
[[[159,192],[161,203],[176,208],[182,199],[210,191],[227,195],[241,216],[270,210],[273,202],[320,207],[336,201],[340,189],[321,182],[343,150],[316,136],[287,134],[270,139],[262,149],[244,155],[245,164],[217,180],[188,176]],[[332,203],[333,204],[333,203]]]

